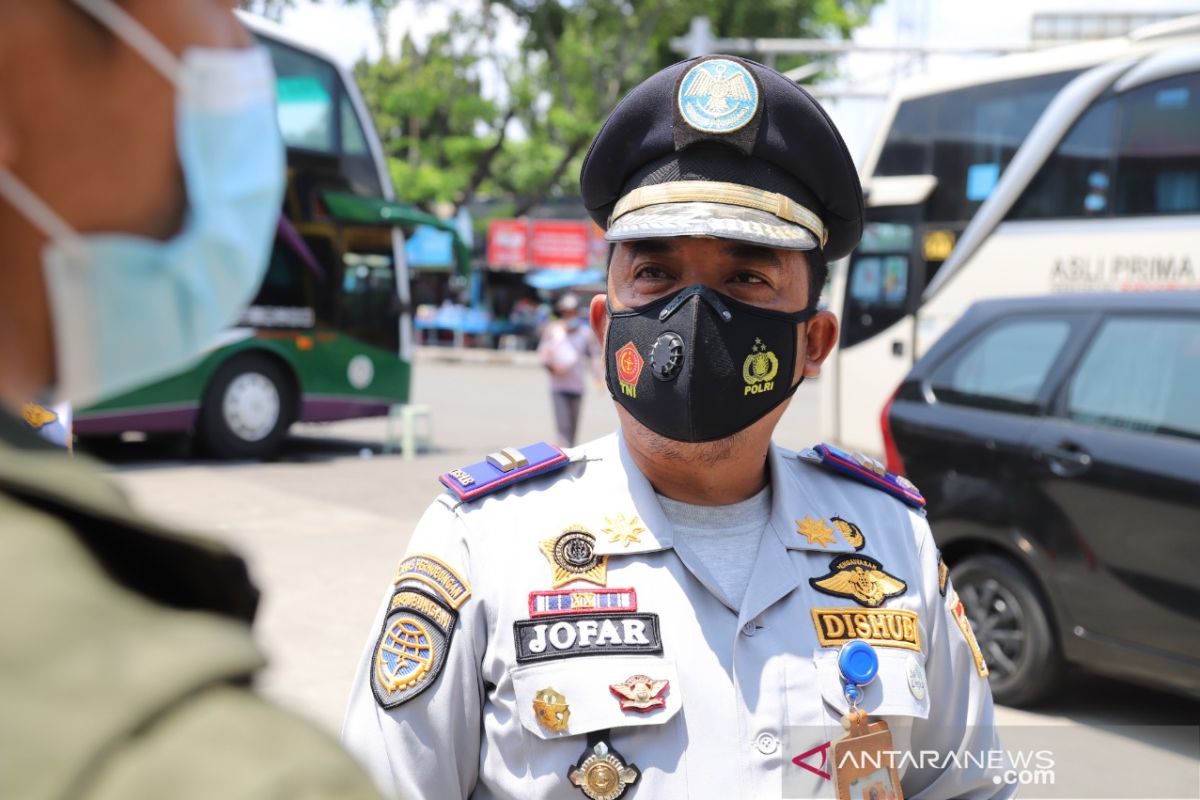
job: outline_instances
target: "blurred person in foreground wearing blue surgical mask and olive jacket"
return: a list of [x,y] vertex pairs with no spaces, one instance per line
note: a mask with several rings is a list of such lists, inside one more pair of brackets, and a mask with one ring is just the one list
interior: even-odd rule
[[251,690],[242,561],[17,416],[184,366],[257,290],[283,151],[233,5],[0,0],[4,798],[377,796]]

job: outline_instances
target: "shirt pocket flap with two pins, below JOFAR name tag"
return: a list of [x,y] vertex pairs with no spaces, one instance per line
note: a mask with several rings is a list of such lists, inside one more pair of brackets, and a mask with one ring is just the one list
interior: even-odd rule
[[[516,667],[510,676],[521,726],[544,740],[594,730],[661,726],[683,708],[673,658],[570,658]],[[635,678],[637,680],[628,686],[631,698],[611,688]],[[554,724],[563,720],[562,710],[547,705],[566,705],[562,729]]]

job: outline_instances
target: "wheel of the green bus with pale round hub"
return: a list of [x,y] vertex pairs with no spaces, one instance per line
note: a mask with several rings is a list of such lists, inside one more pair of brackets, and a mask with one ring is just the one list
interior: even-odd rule
[[259,353],[230,359],[212,375],[200,408],[199,438],[218,458],[266,458],[295,416],[292,377]]

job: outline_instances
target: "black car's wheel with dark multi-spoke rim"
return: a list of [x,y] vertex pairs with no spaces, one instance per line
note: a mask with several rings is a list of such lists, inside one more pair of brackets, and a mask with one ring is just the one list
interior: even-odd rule
[[996,702],[1028,705],[1049,694],[1062,658],[1048,609],[1028,575],[1007,558],[980,554],[956,564],[950,581],[988,662]]

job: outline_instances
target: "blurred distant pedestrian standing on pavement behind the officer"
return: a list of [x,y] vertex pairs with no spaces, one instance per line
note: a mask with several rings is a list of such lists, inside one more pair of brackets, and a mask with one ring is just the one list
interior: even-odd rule
[[578,297],[565,294],[554,308],[558,319],[547,323],[542,330],[538,361],[550,373],[558,444],[574,447],[588,375],[598,374],[600,369],[600,348],[580,313]]

